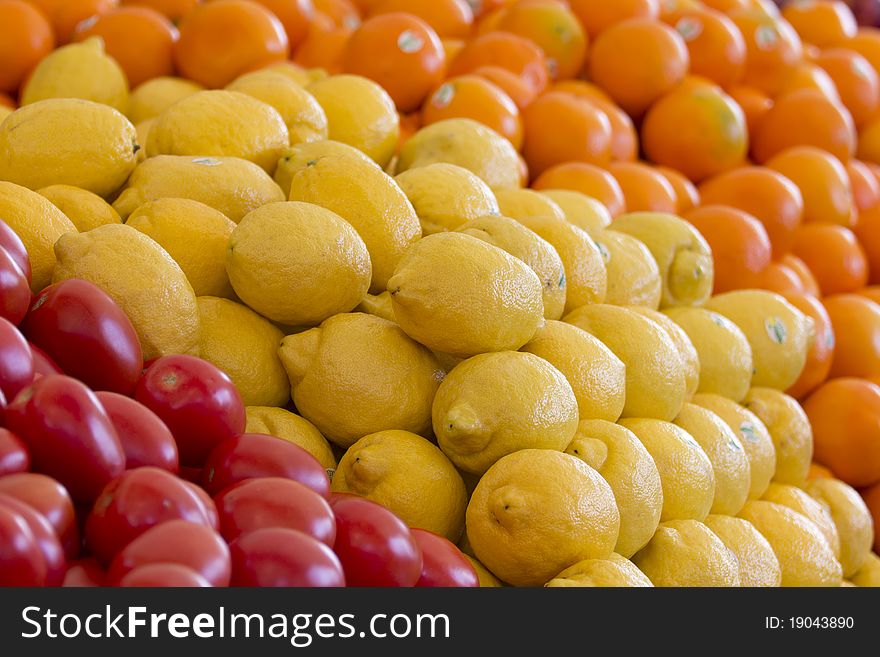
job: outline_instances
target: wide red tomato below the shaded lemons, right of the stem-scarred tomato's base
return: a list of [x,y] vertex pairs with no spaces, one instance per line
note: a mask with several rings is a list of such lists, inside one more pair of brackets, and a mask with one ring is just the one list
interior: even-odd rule
[[293,479],[327,497],[330,480],[317,459],[299,445],[262,433],[243,433],[214,448],[202,471],[202,486],[211,495],[245,479]]

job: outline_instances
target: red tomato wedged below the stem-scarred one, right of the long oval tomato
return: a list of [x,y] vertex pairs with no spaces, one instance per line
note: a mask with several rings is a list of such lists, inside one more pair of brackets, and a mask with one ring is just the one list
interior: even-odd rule
[[159,416],[125,395],[99,391],[95,396],[110,416],[122,443],[126,469],[154,466],[177,474],[177,443]]

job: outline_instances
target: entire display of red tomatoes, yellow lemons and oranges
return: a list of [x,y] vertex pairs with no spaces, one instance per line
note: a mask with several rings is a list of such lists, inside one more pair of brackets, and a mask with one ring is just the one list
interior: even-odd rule
[[880,585],[880,12],[778,4],[0,0],[0,586]]

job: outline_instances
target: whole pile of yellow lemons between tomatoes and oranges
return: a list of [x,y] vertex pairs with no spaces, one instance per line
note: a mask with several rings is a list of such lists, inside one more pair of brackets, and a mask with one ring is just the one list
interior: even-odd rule
[[484,585],[880,581],[864,504],[807,480],[810,425],[782,392],[811,320],[770,292],[712,297],[684,220],[523,189],[512,146],[468,120],[396,152],[391,99],[356,76],[129,93],[85,41],[23,101],[0,124],[0,216],[34,289],[96,283],[147,358],[218,365],[248,430],[457,542]]

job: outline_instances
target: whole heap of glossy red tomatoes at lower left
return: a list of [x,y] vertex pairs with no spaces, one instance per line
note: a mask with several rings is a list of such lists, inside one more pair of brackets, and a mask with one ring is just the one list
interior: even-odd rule
[[32,298],[0,221],[0,586],[478,585],[445,538],[245,423],[212,364],[144,363],[93,284]]

